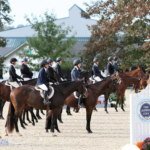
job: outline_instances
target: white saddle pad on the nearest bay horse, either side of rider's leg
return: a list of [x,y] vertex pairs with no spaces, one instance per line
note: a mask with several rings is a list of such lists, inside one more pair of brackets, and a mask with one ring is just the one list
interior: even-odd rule
[[[38,87],[37,85],[35,86],[35,90],[40,92],[40,95],[42,98],[44,98],[44,91]],[[47,99],[51,99],[54,95],[54,88],[52,86],[48,87],[48,95],[47,95]]]

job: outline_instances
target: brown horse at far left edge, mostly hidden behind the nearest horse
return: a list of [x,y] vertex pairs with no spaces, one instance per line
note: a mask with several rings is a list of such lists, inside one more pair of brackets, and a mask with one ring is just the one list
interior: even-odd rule
[[[29,85],[35,85],[36,83],[37,83],[37,79],[32,79],[32,80],[29,80],[29,81],[22,81],[21,82],[22,83],[22,85],[26,85],[26,84],[29,84]],[[10,92],[11,92],[11,89],[10,89],[10,86],[7,86],[7,85],[5,85],[5,81],[4,82],[1,82],[0,83],[0,98],[1,98],[1,109],[0,109],[0,114],[1,114],[1,116],[2,116],[2,111],[3,111],[3,107],[4,107],[4,104],[5,104],[5,102],[7,101],[7,102],[10,102]],[[2,102],[2,100],[4,101],[4,102]],[[30,110],[30,113],[31,114],[34,114],[33,113],[33,110]],[[32,117],[33,117],[34,115],[32,115]],[[3,118],[3,116],[2,116],[2,118]],[[33,117],[32,118],[32,124],[33,125],[35,125],[35,123],[34,123],[34,118],[35,117]],[[35,118],[36,119],[36,118]],[[37,119],[36,119],[36,122],[37,122]],[[22,122],[21,121],[21,126],[23,127],[23,128],[25,128],[24,127],[24,125],[23,125],[23,123],[24,122]],[[26,123],[25,123],[26,124]]]

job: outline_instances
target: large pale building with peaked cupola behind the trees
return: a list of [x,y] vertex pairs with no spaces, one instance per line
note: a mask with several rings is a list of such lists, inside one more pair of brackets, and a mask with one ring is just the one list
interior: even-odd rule
[[[69,9],[69,17],[57,19],[55,21],[57,25],[64,23],[64,28],[68,26],[73,27],[72,33],[69,33],[67,35],[67,38],[71,37],[73,33],[76,32],[75,37],[78,42],[72,48],[72,51],[74,51],[75,54],[78,54],[79,51],[84,49],[84,44],[88,41],[91,35],[90,31],[87,28],[87,25],[91,26],[96,24],[97,22],[96,20],[93,20],[91,18],[84,18],[82,16],[82,12],[84,12],[84,10],[74,4]],[[20,51],[23,47],[25,47],[26,37],[31,37],[33,34],[36,34],[36,32],[31,29],[31,26],[0,31],[0,37],[5,37],[8,40],[7,46],[5,48],[0,48],[1,57],[7,57],[4,62],[7,67],[10,66],[10,58],[18,58],[16,53]],[[19,70],[17,70],[17,73],[18,75],[20,75]],[[3,74],[4,79],[8,79],[8,76],[8,73]]]

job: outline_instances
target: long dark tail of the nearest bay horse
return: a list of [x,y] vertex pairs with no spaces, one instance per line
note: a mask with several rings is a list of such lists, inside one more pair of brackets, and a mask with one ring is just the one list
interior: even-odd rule
[[15,128],[14,114],[15,114],[15,108],[10,99],[9,110],[7,115],[7,129],[9,133],[12,133]]

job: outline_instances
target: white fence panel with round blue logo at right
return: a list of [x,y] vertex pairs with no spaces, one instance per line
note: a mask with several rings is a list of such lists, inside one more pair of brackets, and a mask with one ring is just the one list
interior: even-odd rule
[[130,144],[150,136],[150,84],[141,93],[130,95]]

